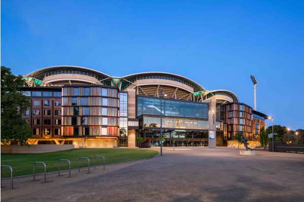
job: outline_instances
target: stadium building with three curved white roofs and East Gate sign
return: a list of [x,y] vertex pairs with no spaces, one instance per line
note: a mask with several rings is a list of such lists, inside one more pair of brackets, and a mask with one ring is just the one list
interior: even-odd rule
[[[32,100],[24,118],[29,144],[75,147],[233,146],[242,132],[259,144],[267,115],[229,90],[207,90],[184,76],[142,72],[113,77],[77,66],[54,66],[24,76]],[[161,102],[162,99],[162,102]]]

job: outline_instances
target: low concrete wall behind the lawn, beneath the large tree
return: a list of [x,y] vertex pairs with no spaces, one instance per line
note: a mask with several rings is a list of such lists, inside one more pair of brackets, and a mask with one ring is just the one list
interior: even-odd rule
[[[72,144],[32,144],[32,145],[1,145],[2,154],[36,154],[62,151],[74,148]],[[10,153],[9,153],[10,151]]]

